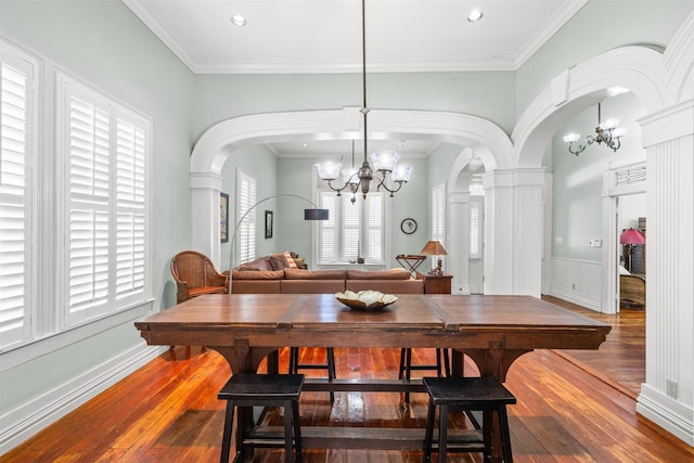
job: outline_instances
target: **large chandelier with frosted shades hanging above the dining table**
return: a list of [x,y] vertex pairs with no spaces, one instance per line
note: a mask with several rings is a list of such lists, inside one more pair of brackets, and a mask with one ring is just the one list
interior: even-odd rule
[[[371,162],[373,163],[373,168],[367,159],[367,153],[369,153],[367,118],[370,110],[367,105],[367,13],[364,3],[365,0],[361,0],[361,80],[363,88],[363,106],[360,113],[364,116],[364,160],[359,169],[355,168],[352,143],[352,167],[342,170],[342,187],[333,184],[340,173],[342,162],[327,162],[316,165],[319,177],[327,181],[327,187],[337,192],[337,196],[342,194],[343,190],[349,188],[349,192],[352,194],[352,203],[355,203],[359,190],[361,190],[363,198],[367,198],[369,187],[371,185],[371,181],[374,180],[374,176],[375,181],[378,182],[376,191],[383,188],[390,193],[390,197],[393,197],[394,193],[397,193],[402,188],[402,184],[407,183],[412,176],[412,166],[398,165],[399,154],[394,151],[372,153]],[[388,177],[390,177],[389,181]]]

